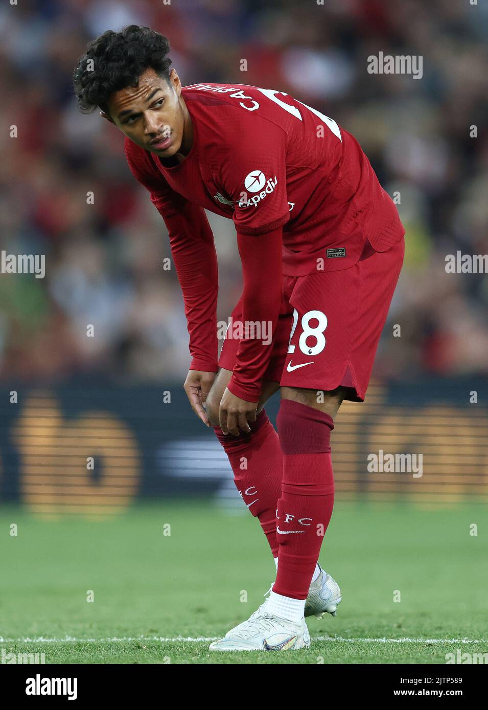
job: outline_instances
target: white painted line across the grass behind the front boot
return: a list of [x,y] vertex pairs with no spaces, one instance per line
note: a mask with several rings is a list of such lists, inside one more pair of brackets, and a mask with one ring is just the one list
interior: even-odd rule
[[[159,641],[160,643],[207,643],[221,636],[115,636],[114,638],[2,638],[0,643],[123,643],[126,641]],[[346,636],[312,636],[313,641],[340,641],[346,643],[488,643],[486,638],[347,638]]]

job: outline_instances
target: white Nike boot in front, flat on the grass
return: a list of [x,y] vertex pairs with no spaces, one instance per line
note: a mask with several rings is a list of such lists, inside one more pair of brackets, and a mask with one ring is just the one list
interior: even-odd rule
[[291,651],[310,647],[310,634],[302,618],[299,623],[266,611],[266,601],[244,623],[213,641],[210,651]]

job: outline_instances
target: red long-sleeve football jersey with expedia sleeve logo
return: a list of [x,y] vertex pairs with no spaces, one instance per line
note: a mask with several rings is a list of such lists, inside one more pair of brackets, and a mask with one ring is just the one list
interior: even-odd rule
[[[190,334],[190,368],[217,371],[217,258],[205,209],[234,220],[243,321],[274,332],[285,275],[349,268],[368,239],[386,251],[404,234],[359,144],[288,94],[246,84],[183,87],[193,146],[167,167],[129,138],[126,158],[168,228]],[[204,209],[205,208],[205,209]],[[271,348],[243,338],[229,390],[259,400]]]

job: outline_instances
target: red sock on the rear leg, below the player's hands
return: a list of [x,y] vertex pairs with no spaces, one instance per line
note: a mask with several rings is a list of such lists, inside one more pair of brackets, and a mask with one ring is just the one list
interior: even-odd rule
[[283,454],[278,434],[264,409],[249,427],[250,433],[240,432],[238,437],[222,434],[220,427],[214,427],[214,431],[229,457],[237,490],[252,515],[259,519],[273,557],[277,557],[276,501],[281,496]]

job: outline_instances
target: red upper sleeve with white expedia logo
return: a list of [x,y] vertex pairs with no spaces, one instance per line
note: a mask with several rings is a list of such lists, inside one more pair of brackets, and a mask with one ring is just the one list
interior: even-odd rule
[[[232,124],[231,124],[232,126]],[[290,219],[286,197],[286,132],[244,111],[224,140],[217,178],[234,201],[240,234],[264,234]]]

